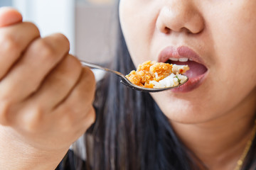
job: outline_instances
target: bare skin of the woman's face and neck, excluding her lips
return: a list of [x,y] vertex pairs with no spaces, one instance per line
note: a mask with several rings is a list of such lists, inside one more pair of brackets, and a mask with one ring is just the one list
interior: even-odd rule
[[[198,88],[151,94],[181,141],[208,169],[234,169],[256,111],[256,1],[121,0],[134,64],[186,46],[206,63]],[[247,80],[245,80],[247,79]]]

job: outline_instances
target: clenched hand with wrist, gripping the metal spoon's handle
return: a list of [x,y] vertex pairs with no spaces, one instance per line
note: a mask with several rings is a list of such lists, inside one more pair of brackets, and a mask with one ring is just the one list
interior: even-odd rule
[[54,167],[94,122],[95,78],[69,48],[0,8],[0,169]]

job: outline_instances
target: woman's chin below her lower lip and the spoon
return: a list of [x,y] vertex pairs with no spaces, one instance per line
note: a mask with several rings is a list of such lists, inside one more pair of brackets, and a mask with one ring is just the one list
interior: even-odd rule
[[215,118],[214,93],[209,89],[210,81],[186,93],[163,91],[151,96],[169,120],[177,123],[204,123]]

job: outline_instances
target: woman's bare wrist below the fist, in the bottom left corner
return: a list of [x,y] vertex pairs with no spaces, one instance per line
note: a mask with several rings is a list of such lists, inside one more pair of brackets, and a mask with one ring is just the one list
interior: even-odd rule
[[0,125],[0,169],[55,169],[68,148],[43,150],[23,142]]

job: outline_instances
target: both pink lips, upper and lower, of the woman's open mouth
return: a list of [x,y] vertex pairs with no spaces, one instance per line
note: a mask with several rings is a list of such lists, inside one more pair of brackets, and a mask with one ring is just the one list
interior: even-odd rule
[[[205,62],[199,55],[196,54],[191,48],[186,46],[180,46],[180,47],[166,47],[164,50],[162,50],[158,57],[158,62],[166,62],[169,60],[169,58],[183,58],[186,57],[190,60],[193,60],[194,62],[198,62],[199,64],[203,64],[206,66]],[[206,75],[208,74],[208,70],[199,75],[198,77],[189,78],[186,84],[183,84],[182,86],[178,86],[175,89],[172,89],[172,92],[181,92],[186,93],[189,91],[192,91],[193,89],[196,89],[198,86],[200,86],[203,83],[203,80],[206,79]],[[186,75],[186,74],[185,74]]]

